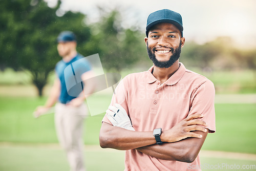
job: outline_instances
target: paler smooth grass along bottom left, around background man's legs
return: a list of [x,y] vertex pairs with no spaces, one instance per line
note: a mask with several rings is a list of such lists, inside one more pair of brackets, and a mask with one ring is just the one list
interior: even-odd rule
[[[98,151],[86,148],[87,170],[124,170],[124,151]],[[65,153],[59,147],[37,145],[0,146],[0,170],[63,171],[69,170]]]

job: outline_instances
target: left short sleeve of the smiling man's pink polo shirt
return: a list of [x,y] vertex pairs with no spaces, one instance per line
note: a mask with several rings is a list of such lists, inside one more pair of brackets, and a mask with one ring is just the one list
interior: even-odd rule
[[[126,77],[119,82],[118,86],[116,87],[113,93],[110,105],[114,105],[115,103],[120,104],[125,109],[126,113],[129,115],[127,105]],[[103,117],[102,122],[112,124],[106,117],[106,115]]]

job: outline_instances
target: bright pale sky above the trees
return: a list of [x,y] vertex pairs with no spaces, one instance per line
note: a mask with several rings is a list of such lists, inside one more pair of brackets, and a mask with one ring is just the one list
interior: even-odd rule
[[[45,0],[49,6],[57,0]],[[147,16],[159,9],[179,12],[183,18],[186,40],[205,42],[218,36],[230,36],[238,45],[256,47],[255,0],[61,0],[63,11],[88,14],[89,22],[97,20],[96,6],[122,11],[123,26],[137,25],[145,30]],[[52,3],[52,4],[51,4]]]

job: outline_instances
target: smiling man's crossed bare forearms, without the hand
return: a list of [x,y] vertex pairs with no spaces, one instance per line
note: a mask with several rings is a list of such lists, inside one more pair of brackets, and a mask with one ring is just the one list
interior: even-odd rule
[[178,142],[156,144],[152,132],[135,132],[108,123],[102,123],[100,146],[121,150],[137,149],[146,155],[162,160],[193,162],[197,157],[207,132],[196,131],[202,138],[186,138]]

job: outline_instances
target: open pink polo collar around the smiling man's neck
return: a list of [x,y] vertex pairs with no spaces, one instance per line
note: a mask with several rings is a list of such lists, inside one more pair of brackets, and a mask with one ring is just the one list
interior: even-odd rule
[[[167,79],[167,81],[164,82],[166,85],[171,86],[171,85],[176,84],[182,78],[184,73],[186,72],[186,68],[183,65],[183,63],[179,62],[179,64],[180,64],[180,68],[174,73],[174,75],[169,77],[169,79]],[[148,71],[147,71],[147,83],[153,83],[157,80],[153,76],[152,70],[153,70],[153,66],[150,69],[148,69]]]

